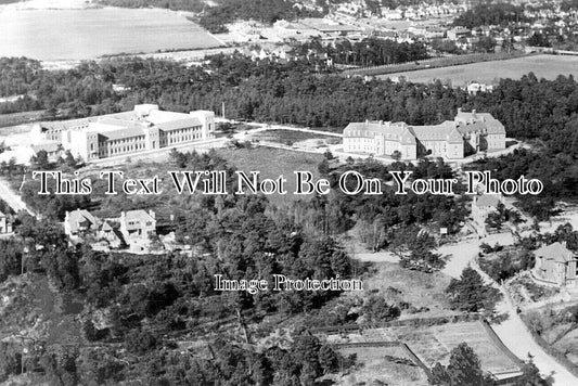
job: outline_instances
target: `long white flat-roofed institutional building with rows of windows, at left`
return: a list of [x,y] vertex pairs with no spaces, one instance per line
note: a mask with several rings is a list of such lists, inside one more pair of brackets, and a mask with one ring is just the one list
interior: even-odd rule
[[215,113],[164,112],[156,104],[139,104],[131,112],[44,123],[33,136],[90,162],[215,138]]

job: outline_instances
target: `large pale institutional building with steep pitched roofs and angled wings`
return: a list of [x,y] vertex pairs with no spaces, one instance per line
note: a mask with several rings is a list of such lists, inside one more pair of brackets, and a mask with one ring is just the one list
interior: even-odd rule
[[346,153],[390,156],[397,151],[402,159],[426,155],[462,159],[465,154],[505,149],[505,129],[491,114],[459,108],[453,120],[433,126],[352,123],[344,129],[343,145]]

